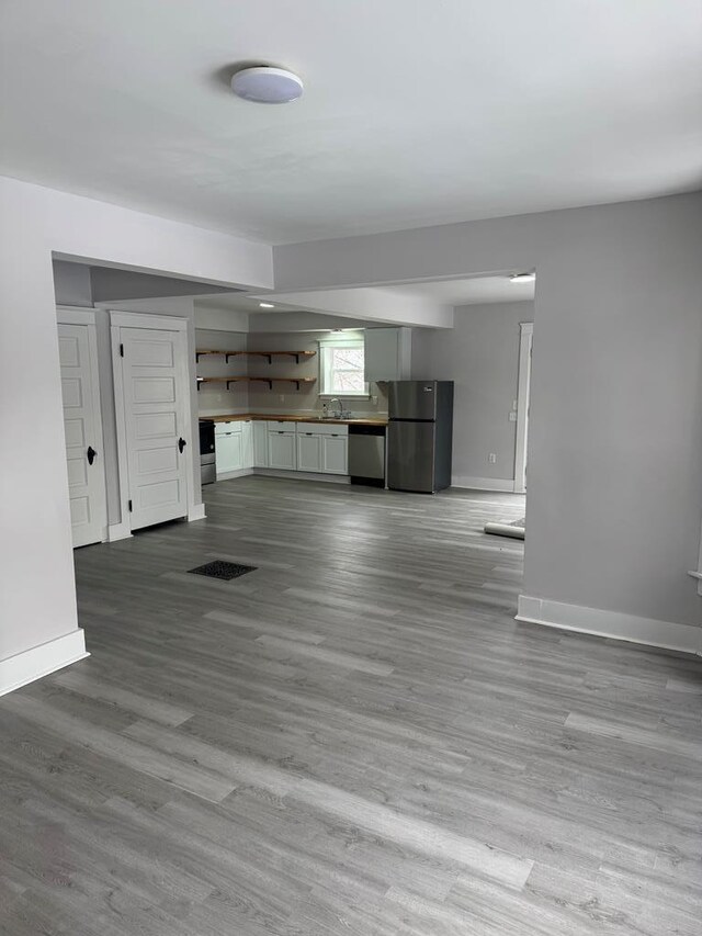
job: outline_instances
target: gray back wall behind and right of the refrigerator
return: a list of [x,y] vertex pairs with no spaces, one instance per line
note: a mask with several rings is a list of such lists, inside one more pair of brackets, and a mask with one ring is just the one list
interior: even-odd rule
[[[465,305],[452,329],[415,329],[412,376],[454,381],[453,484],[514,478],[521,322],[534,320],[533,302]],[[494,452],[497,462],[490,464]]]

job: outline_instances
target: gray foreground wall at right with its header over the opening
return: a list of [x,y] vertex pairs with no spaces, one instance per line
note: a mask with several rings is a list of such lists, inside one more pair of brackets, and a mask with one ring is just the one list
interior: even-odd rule
[[524,591],[700,623],[702,194],[274,248],[280,291],[536,268]]

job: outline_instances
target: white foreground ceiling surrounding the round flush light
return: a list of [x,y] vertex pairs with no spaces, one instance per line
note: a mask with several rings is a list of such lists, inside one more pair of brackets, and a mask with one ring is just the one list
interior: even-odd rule
[[0,172],[273,244],[659,195],[701,60],[699,0],[5,0]]

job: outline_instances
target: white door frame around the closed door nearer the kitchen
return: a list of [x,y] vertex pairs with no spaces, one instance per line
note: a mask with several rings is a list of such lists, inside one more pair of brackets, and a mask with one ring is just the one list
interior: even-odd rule
[[[129,471],[127,462],[127,430],[126,407],[124,405],[124,374],[120,354],[120,329],[121,328],[149,328],[157,331],[180,331],[184,336],[185,354],[179,356],[176,366],[177,380],[182,381],[182,417],[183,425],[190,427],[190,436],[193,433],[192,408],[190,405],[190,366],[188,361],[188,319],[171,315],[149,315],[140,312],[110,312],[110,342],[112,349],[112,375],[114,380],[114,411],[117,429],[117,481],[120,485],[120,515],[118,525],[112,528],[111,539],[122,539],[132,535],[129,523]],[[204,516],[202,505],[196,506],[194,500],[195,475],[193,469],[193,452],[200,453],[200,440],[188,439],[191,454],[185,461],[185,506],[189,520],[200,520]],[[199,459],[200,460],[200,459]],[[118,533],[118,534],[117,534]]]

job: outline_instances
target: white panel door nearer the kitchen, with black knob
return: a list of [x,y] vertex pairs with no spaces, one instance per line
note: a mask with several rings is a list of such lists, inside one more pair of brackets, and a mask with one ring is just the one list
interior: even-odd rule
[[182,331],[120,328],[133,530],[188,515],[189,392]]

